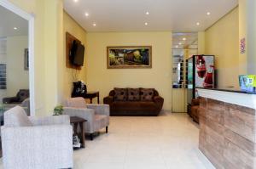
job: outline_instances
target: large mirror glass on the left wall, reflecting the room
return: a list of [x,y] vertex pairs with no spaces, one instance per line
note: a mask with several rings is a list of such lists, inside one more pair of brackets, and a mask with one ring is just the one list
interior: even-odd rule
[[0,121],[20,105],[30,115],[28,21],[0,6]]

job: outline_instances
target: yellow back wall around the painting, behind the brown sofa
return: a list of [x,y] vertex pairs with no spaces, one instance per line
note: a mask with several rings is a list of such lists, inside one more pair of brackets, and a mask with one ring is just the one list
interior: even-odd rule
[[[152,69],[107,69],[108,46],[152,45]],[[172,109],[172,33],[102,32],[87,34],[87,84],[101,101],[113,87],[154,87]]]

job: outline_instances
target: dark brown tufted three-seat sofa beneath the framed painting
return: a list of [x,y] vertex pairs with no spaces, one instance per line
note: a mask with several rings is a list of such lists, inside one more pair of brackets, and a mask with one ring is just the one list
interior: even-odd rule
[[159,115],[164,99],[154,88],[114,88],[104,98],[110,115]]

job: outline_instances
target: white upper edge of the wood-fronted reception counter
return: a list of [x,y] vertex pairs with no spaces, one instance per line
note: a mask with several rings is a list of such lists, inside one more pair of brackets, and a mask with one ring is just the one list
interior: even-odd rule
[[199,96],[229,104],[237,104],[256,110],[256,94],[236,90],[196,88]]

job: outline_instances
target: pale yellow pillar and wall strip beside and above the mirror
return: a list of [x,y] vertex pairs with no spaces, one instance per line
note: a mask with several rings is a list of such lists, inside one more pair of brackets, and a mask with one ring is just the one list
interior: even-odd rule
[[35,37],[35,107],[36,115],[51,115],[58,103],[58,63],[63,51],[61,0],[9,0],[29,14],[34,14]]

